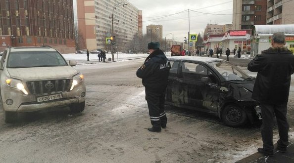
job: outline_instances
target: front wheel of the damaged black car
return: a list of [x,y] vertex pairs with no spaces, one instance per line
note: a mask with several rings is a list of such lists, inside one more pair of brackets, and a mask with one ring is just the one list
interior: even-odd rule
[[222,111],[222,120],[228,126],[237,127],[247,122],[247,116],[245,111],[238,105],[231,104]]

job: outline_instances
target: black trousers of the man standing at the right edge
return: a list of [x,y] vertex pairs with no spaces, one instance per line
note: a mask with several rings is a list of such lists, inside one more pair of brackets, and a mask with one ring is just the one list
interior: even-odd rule
[[261,103],[261,136],[263,142],[263,149],[272,151],[273,145],[273,125],[274,116],[276,116],[280,140],[278,140],[278,147],[287,148],[289,124],[287,122],[287,103],[285,104],[263,104]]

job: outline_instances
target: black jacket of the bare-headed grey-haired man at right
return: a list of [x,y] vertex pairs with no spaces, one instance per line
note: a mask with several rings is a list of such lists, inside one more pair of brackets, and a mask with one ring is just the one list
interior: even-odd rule
[[252,98],[266,104],[288,102],[294,55],[287,47],[270,47],[248,63],[248,70],[258,72]]

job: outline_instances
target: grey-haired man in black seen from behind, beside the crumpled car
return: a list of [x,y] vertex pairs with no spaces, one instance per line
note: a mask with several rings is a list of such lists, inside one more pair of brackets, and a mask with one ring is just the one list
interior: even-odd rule
[[289,144],[287,122],[287,103],[294,73],[294,55],[284,45],[285,35],[281,32],[272,36],[272,47],[263,50],[248,63],[248,70],[257,72],[252,98],[260,102],[262,125],[261,136],[263,148],[258,152],[266,156],[274,155],[273,125],[276,116],[279,136],[278,150],[286,152]]

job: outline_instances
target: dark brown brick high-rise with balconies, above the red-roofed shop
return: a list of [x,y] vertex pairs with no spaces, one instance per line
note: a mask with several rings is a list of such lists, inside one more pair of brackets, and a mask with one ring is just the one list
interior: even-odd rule
[[233,0],[233,30],[265,25],[269,0]]

